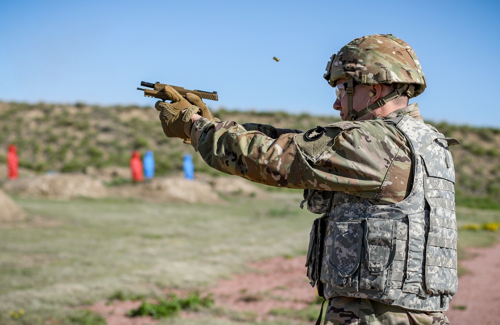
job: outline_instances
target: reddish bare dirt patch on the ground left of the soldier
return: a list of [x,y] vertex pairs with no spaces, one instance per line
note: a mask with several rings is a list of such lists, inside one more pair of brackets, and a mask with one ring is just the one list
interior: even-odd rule
[[[231,311],[252,315],[253,321],[272,319],[269,310],[275,308],[303,309],[316,299],[316,289],[312,288],[305,276],[305,257],[275,257],[249,266],[254,270],[248,273],[234,274],[229,279],[219,280],[212,287],[200,292],[201,296],[213,294],[215,307],[226,312],[221,317],[228,317]],[[169,290],[168,292],[172,292]],[[185,292],[175,291],[180,296]],[[102,314],[107,325],[145,325],[153,324],[150,317],[127,317],[126,312],[137,308],[140,301],[106,301],[90,307],[90,310]],[[319,314],[319,307],[318,307]],[[195,313],[182,313],[180,317],[197,317]]]

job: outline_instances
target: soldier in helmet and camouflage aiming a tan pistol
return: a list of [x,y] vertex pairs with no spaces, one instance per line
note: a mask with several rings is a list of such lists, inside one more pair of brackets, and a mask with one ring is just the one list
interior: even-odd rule
[[343,121],[306,132],[215,121],[168,86],[172,102],[155,107],[166,136],[190,138],[211,167],[304,189],[301,206],[321,214],[306,266],[328,300],[325,324],[447,324],[457,289],[448,145],[458,141],[408,105],[426,86],[418,58],[400,38],[364,36],[331,56],[324,78]]

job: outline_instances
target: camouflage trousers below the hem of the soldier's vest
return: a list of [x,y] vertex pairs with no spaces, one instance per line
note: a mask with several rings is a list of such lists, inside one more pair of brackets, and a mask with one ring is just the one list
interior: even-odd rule
[[324,324],[449,325],[449,322],[443,312],[408,310],[370,299],[335,297],[328,301]]

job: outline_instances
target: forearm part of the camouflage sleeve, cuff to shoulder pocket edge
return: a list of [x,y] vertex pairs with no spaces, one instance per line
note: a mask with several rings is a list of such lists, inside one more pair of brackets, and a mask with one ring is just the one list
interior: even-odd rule
[[305,188],[295,160],[297,133],[283,130],[200,118],[191,129],[191,145],[217,170],[266,185]]

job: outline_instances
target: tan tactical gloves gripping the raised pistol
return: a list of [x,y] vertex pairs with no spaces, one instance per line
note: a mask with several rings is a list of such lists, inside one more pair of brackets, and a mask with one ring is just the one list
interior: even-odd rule
[[200,114],[210,120],[214,120],[210,110],[201,101],[201,98],[192,93],[181,96],[177,90],[169,85],[165,85],[163,90],[171,101],[170,103],[158,100],[154,107],[160,111],[159,119],[161,127],[167,137],[183,138],[185,143],[190,143],[191,116]]

